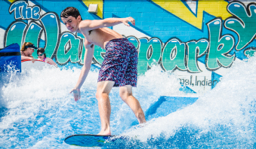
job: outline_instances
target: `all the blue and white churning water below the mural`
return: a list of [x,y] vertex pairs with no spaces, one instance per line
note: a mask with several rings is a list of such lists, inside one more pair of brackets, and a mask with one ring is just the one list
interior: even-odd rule
[[[98,68],[91,68],[79,102],[69,94],[79,78],[79,67],[69,64],[1,75],[0,148],[80,148],[63,140],[100,131],[94,96]],[[109,95],[112,134],[130,139],[106,147],[255,148],[255,68],[254,57],[236,61],[217,87],[196,95],[180,92],[174,75],[153,67],[133,89],[147,115],[146,126],[137,126],[118,88],[113,88]]]

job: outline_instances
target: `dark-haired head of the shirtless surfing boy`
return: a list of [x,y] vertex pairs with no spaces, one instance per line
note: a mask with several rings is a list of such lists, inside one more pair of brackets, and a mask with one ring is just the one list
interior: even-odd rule
[[79,29],[79,23],[82,18],[78,9],[68,7],[61,12],[60,17],[70,32],[76,32]]

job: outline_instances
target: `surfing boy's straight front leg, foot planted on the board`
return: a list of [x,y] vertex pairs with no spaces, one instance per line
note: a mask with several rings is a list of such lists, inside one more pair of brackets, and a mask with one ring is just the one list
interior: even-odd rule
[[114,84],[114,81],[100,81],[97,83],[96,99],[98,101],[101,121],[101,130],[98,135],[111,135],[109,125],[109,117],[111,113],[109,93]]

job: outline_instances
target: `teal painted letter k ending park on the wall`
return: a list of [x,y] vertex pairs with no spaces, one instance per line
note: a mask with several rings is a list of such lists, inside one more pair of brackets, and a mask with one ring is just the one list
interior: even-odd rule
[[209,33],[209,48],[206,55],[206,66],[210,70],[229,67],[235,59],[235,54],[229,56],[235,41],[232,35],[221,36],[222,20],[217,18],[207,23]]

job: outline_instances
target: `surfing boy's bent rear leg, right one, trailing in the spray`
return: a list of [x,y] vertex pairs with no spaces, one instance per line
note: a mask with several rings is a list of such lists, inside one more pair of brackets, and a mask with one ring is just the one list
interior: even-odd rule
[[131,85],[125,85],[124,87],[119,88],[119,95],[121,99],[131,108],[134,112],[135,117],[139,123],[146,123],[145,115],[142,108],[140,107],[140,102],[132,96],[132,87]]

